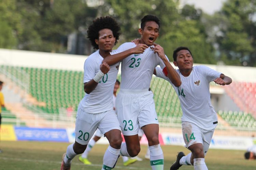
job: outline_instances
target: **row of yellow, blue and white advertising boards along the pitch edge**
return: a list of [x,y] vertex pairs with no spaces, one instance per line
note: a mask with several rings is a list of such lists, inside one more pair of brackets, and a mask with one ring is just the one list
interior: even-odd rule
[[[2,141],[55,141],[55,142],[74,142],[74,129],[51,129],[51,128],[27,128],[12,125],[2,125],[0,130]],[[182,134],[160,133],[159,141],[161,145],[184,146]],[[246,150],[256,142],[252,137],[234,137],[234,136],[213,136],[210,148],[212,149],[231,149]],[[104,137],[98,143],[108,144]],[[145,135],[142,136],[141,144],[147,145]]]

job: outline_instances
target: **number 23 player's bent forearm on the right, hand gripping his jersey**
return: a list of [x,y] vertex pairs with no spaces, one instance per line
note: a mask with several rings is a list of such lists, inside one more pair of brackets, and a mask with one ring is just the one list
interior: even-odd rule
[[[154,52],[158,54],[159,58],[162,59],[163,63],[166,66],[163,71],[165,72],[165,74],[167,74],[167,77],[170,79],[170,81],[174,86],[180,87],[181,86],[180,75],[177,73],[177,71],[175,71],[175,69],[172,67],[170,62],[167,60],[163,48],[157,44],[154,44],[154,46],[155,46]],[[154,73],[155,73],[155,70],[154,70]]]

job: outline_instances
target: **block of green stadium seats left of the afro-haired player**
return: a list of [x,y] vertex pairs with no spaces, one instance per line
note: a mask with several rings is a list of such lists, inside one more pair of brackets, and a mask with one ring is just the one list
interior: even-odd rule
[[38,106],[46,113],[58,113],[59,108],[73,107],[76,109],[84,96],[83,73],[79,71],[25,68],[1,66],[17,79],[24,75],[16,70],[24,70],[29,75],[29,93],[46,106]]

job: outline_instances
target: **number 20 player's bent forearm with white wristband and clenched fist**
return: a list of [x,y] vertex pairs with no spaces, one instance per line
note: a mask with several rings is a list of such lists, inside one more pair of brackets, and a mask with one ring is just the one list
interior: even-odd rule
[[102,63],[100,65],[100,70],[99,72],[95,75],[95,77],[93,79],[91,79],[90,81],[84,83],[84,91],[87,94],[90,94],[90,92],[92,92],[96,86],[98,85],[98,83],[100,82],[100,80],[102,79],[102,77],[109,72],[109,65],[106,63]]

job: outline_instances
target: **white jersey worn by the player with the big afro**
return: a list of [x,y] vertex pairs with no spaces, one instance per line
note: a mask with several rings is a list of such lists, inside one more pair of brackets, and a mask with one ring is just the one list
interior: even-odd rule
[[[111,54],[116,53],[116,50],[111,52]],[[99,54],[99,50],[91,54],[86,59],[84,63],[84,83],[89,82],[99,72],[102,60],[103,58]],[[79,104],[79,107],[81,107],[84,112],[101,113],[113,110],[112,95],[119,65],[120,62],[110,66],[109,72],[103,76],[96,88],[90,94],[85,94],[84,98]]]

